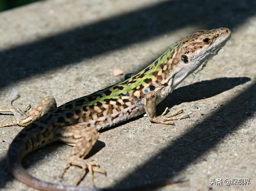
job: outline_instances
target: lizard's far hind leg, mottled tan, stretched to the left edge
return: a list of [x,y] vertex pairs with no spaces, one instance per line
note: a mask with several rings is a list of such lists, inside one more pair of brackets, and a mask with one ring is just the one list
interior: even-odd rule
[[30,108],[30,105],[28,105],[23,111],[16,109],[12,106],[12,102],[14,100],[16,100],[16,98],[10,101],[10,109],[1,109],[0,112],[12,112],[14,114],[15,120],[13,122],[0,125],[0,127],[6,127],[12,124],[17,124],[19,126],[27,126],[39,117],[46,114],[48,111],[57,107],[56,101],[52,96],[43,98],[40,102],[36,103],[32,108]]

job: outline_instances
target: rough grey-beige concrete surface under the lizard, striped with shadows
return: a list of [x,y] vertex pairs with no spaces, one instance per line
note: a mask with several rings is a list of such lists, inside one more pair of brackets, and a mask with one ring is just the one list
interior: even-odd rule
[[[251,0],[45,0],[0,13],[0,108],[13,89],[24,108],[52,95],[58,105],[122,81],[114,69],[139,72],[170,45],[199,29],[227,27],[232,38],[203,71],[188,77],[158,107],[183,108],[176,126],[137,117],[100,132],[88,160],[99,188],[186,176],[158,191],[253,191],[256,187],[256,2]],[[1,124],[11,122],[0,114]],[[22,127],[0,129],[0,189],[35,190],[14,179],[6,153]],[[29,173],[58,182],[70,146],[54,143],[23,160]],[[78,167],[67,170],[73,184]],[[210,179],[222,179],[211,185]],[[225,179],[250,179],[225,186]],[[89,176],[80,186],[90,186]]]

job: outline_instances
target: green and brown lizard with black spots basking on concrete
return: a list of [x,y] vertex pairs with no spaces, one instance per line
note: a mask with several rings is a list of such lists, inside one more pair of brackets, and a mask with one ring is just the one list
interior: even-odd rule
[[144,113],[150,122],[159,124],[173,125],[172,120],[188,117],[183,115],[171,118],[182,111],[165,115],[168,108],[161,117],[157,117],[156,106],[201,65],[202,70],[230,37],[231,31],[228,28],[196,31],[171,45],[163,55],[138,74],[131,75],[121,83],[67,102],[46,112],[34,122],[31,120],[31,124],[24,127],[14,138],[7,152],[7,166],[11,174],[33,188],[47,191],[126,190],[84,188],[45,182],[28,174],[22,167],[21,160],[29,152],[61,140],[74,145],[62,175],[70,165],[79,166],[83,171],[89,170],[90,174],[93,171],[102,172],[93,168],[97,164],[83,160],[99,137],[97,131]]

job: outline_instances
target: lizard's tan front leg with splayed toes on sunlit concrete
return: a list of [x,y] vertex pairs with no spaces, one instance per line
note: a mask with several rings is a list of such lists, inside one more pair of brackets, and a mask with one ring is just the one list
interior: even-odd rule
[[182,113],[183,110],[178,110],[177,112],[171,115],[165,115],[168,111],[168,107],[167,107],[164,110],[163,114],[160,116],[162,117],[163,120],[159,120],[158,117],[156,117],[156,100],[160,96],[161,94],[158,93],[157,91],[150,91],[145,95],[145,110],[151,122],[159,123],[159,124],[174,125],[174,122],[172,122],[172,120],[179,120],[179,119],[184,119],[189,117],[189,115],[182,115],[181,117],[170,118]]

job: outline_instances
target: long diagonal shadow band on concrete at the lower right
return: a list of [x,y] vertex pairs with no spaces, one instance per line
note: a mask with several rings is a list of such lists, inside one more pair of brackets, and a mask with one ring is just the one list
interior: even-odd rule
[[[144,184],[145,181],[162,181],[173,178],[192,163],[204,160],[202,155],[220,143],[240,124],[251,117],[256,108],[256,84],[234,97],[229,103],[218,108],[211,117],[176,139],[140,166],[137,170],[118,182],[114,187],[126,187]],[[246,112],[244,111],[246,108]],[[178,127],[176,127],[178,128]],[[244,127],[246,128],[246,127]],[[250,141],[250,140],[248,140]],[[161,156],[161,160],[157,159]],[[147,177],[146,177],[147,175]]]

